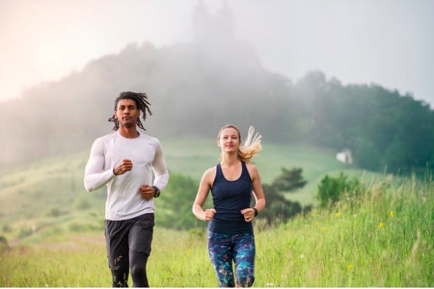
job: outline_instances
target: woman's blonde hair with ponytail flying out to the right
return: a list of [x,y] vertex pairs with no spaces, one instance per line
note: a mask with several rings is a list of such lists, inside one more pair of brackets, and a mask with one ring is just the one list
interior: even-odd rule
[[[218,132],[217,143],[218,143],[218,141],[220,141],[221,132],[223,132],[223,130],[225,128],[233,128],[234,130],[237,130],[238,139],[240,141],[239,148],[238,148],[238,157],[239,157],[239,159],[241,159],[241,161],[246,162],[246,164],[249,163],[250,160],[257,153],[260,152],[260,150],[262,150],[262,145],[261,145],[262,135],[260,135],[259,133],[255,134],[255,127],[253,127],[251,125],[248,128],[248,134],[247,134],[247,137],[246,137],[246,140],[244,141],[244,143],[241,141],[241,133],[239,132],[238,127],[236,127],[235,125],[225,125],[224,127],[222,127],[220,129],[220,132]],[[221,153],[218,156],[218,159],[219,160],[222,159]]]

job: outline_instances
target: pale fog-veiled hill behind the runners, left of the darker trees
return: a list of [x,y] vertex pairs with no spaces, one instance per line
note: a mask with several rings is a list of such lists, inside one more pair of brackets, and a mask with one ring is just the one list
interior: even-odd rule
[[0,104],[1,131],[8,135],[1,159],[27,162],[89,147],[112,129],[107,119],[121,91],[149,94],[154,115],[145,127],[154,135],[214,137],[226,123],[264,129],[268,118],[279,120],[274,111],[287,98],[287,79],[264,70],[248,45],[237,45],[230,51],[215,47],[218,54],[198,43],[128,45],[82,72],[31,88]]

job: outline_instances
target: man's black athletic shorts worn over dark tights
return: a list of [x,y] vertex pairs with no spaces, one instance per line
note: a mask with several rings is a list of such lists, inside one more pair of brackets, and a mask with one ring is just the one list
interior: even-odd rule
[[105,242],[111,270],[129,267],[129,252],[151,253],[154,213],[122,221],[105,220]]

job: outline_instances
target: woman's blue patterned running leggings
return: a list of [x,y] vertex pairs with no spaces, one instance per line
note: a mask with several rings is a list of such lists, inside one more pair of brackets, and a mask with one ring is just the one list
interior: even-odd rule
[[208,252],[216,270],[218,286],[234,287],[232,261],[237,287],[250,287],[255,281],[255,236],[208,232]]

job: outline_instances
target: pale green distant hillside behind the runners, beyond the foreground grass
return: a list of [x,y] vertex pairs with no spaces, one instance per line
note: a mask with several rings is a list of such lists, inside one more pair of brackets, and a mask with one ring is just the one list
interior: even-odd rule
[[[203,171],[218,162],[219,150],[214,139],[163,139],[162,143],[170,171],[190,175],[197,183]],[[276,178],[283,166],[301,166],[308,185],[287,196],[306,205],[313,203],[317,183],[325,173],[361,173],[345,169],[345,165],[336,161],[335,153],[304,144],[263,143],[263,150],[254,162],[264,183]],[[25,231],[29,231],[31,226],[38,230],[61,220],[68,221],[65,226],[77,226],[77,223],[90,222],[89,212],[102,215],[105,189],[88,194],[83,187],[88,155],[89,152],[85,151],[3,170],[0,175],[0,225],[3,232],[0,231],[0,235],[15,240],[26,235]],[[82,203],[85,205],[80,210]],[[4,230],[4,226],[8,228]]]

